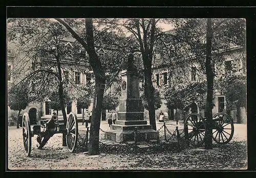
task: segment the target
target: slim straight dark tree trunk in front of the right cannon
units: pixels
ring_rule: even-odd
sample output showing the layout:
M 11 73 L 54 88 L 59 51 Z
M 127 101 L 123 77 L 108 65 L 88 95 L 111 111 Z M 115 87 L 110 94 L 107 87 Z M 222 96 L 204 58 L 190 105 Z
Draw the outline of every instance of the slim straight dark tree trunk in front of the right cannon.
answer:
M 212 128 L 210 122 L 212 121 L 212 97 L 214 95 L 214 72 L 211 66 L 211 39 L 212 39 L 212 28 L 211 19 L 207 19 L 206 24 L 206 60 L 205 70 L 207 78 L 207 98 L 206 98 L 206 133 L 205 133 L 205 149 L 212 149 Z

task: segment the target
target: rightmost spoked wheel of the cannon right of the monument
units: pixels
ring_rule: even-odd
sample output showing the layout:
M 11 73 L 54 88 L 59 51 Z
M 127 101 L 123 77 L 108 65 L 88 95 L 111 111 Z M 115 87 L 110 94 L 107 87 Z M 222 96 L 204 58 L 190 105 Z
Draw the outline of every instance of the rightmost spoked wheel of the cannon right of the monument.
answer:
M 217 113 L 212 119 L 215 120 L 215 127 L 212 129 L 212 139 L 219 144 L 227 144 L 233 137 L 234 124 L 226 113 Z

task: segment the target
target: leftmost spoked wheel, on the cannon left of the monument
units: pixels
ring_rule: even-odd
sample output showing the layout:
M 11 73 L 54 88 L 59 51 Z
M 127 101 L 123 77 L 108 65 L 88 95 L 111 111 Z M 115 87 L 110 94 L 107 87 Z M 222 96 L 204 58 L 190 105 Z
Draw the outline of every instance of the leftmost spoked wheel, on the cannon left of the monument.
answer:
M 26 155 L 29 157 L 31 152 L 31 128 L 30 120 L 28 113 L 24 113 L 22 119 L 22 135 L 23 135 L 23 144 L 25 148 Z

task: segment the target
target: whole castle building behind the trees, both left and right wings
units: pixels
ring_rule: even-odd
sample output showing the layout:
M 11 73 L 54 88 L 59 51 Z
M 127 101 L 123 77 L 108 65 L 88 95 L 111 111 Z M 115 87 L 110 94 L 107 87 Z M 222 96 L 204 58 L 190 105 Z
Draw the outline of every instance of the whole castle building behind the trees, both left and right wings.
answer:
M 69 45 L 70 47 L 72 47 L 72 43 L 74 41 L 74 39 L 65 39 L 62 40 L 62 43 L 63 45 Z M 108 53 L 108 50 L 105 50 L 101 47 L 96 47 L 96 52 L 98 53 L 98 56 L 103 56 Z M 80 48 L 78 53 L 84 54 L 84 56 L 88 58 L 88 54 L 83 48 Z M 246 76 L 246 63 L 244 57 L 242 57 L 242 53 L 244 53 L 244 51 L 239 46 L 235 46 L 222 52 L 225 60 L 215 64 L 215 83 L 218 84 L 218 80 L 221 78 L 222 75 L 230 75 L 232 72 L 232 68 L 237 68 L 237 73 Z M 162 98 L 166 87 L 179 88 L 182 86 L 185 87 L 191 83 L 206 81 L 206 75 L 204 74 L 205 72 L 201 69 L 200 64 L 197 62 L 186 62 L 182 63 L 182 65 L 179 66 L 175 65 L 175 62 L 166 63 L 163 59 L 161 59 L 159 55 L 157 55 L 156 58 L 158 58 L 158 60 L 160 61 L 162 60 L 162 62 L 159 62 L 157 66 L 154 66 L 152 80 L 155 89 L 159 90 L 162 94 Z M 11 55 L 11 53 L 8 53 L 8 89 L 10 84 L 17 83 L 22 80 L 26 76 L 26 73 L 33 68 L 33 62 L 31 61 L 30 64 L 23 67 L 23 71 L 20 71 L 20 67 L 17 62 L 18 59 L 20 59 L 19 56 L 15 57 L 15 55 Z M 47 57 L 41 57 L 38 62 L 39 63 L 37 67 L 46 67 L 52 65 L 55 60 L 49 59 Z M 81 118 L 82 109 L 77 106 L 77 98 L 81 95 L 81 93 L 77 91 L 77 88 L 86 87 L 87 85 L 93 86 L 94 80 L 91 67 L 88 65 L 88 62 L 77 63 L 73 59 L 62 59 L 61 73 L 63 79 L 68 80 L 72 83 L 70 87 L 72 88 L 73 98 L 69 101 L 66 107 L 66 113 L 69 114 L 70 112 L 73 112 L 77 114 L 78 118 Z M 118 76 L 118 78 L 120 78 L 120 76 Z M 143 87 L 143 77 L 140 85 L 141 87 Z M 113 87 L 116 88 L 120 86 L 113 84 L 112 87 L 110 87 L 106 92 L 114 91 Z M 49 98 L 45 98 L 45 100 L 40 104 L 31 103 L 23 112 L 28 112 L 30 108 L 34 107 L 37 109 L 37 111 L 40 111 L 38 113 L 40 113 L 40 116 L 42 118 L 50 118 L 54 112 L 54 110 L 50 106 L 50 101 L 51 100 Z M 213 114 L 226 111 L 225 95 L 221 91 L 219 91 L 218 88 L 214 89 L 213 101 L 215 104 L 215 107 L 212 110 Z M 242 122 L 246 123 L 246 110 L 245 108 L 241 108 L 240 110 Z M 89 107 L 89 112 L 91 111 L 92 104 Z M 167 108 L 166 100 L 163 99 L 161 108 L 156 111 L 156 119 L 158 119 L 160 111 L 168 112 L 169 119 L 184 119 L 185 116 L 192 111 L 201 114 L 203 117 L 205 116 L 205 109 L 201 108 L 197 104 L 197 100 L 194 101 L 193 108 L 190 108 L 188 112 L 184 112 L 180 109 Z M 147 113 L 148 111 L 145 110 L 145 119 L 147 119 Z M 58 111 L 58 115 L 61 117 L 61 111 Z M 233 118 L 234 122 L 237 121 L 236 108 L 233 108 L 233 110 L 230 112 L 230 116 Z

